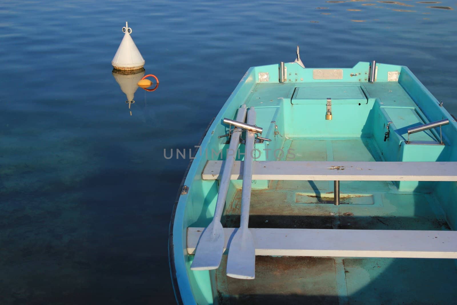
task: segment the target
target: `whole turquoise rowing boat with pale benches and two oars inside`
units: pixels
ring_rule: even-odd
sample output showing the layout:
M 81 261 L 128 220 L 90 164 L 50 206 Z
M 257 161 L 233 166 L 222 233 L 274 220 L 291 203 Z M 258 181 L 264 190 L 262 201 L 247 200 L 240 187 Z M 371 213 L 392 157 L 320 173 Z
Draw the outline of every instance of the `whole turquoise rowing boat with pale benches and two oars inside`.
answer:
M 457 124 L 405 66 L 251 67 L 170 223 L 182 304 L 457 304 Z

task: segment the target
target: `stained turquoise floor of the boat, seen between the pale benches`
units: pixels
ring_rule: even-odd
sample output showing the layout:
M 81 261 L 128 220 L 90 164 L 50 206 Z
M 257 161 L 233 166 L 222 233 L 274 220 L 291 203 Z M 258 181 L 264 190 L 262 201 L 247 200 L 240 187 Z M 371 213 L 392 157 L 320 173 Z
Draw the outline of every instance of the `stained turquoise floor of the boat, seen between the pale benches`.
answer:
M 383 161 L 372 139 L 287 139 L 295 161 Z M 298 152 L 301 152 L 300 154 Z M 283 159 L 284 160 L 284 159 Z M 393 182 L 272 181 L 253 190 L 252 228 L 451 230 L 435 198 Z M 226 205 L 224 227 L 239 226 L 241 190 Z M 449 259 L 262 257 L 255 279 L 228 278 L 227 257 L 215 277 L 221 304 L 450 304 L 457 266 Z

